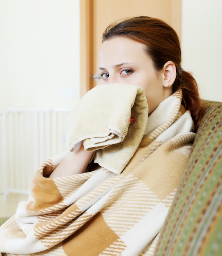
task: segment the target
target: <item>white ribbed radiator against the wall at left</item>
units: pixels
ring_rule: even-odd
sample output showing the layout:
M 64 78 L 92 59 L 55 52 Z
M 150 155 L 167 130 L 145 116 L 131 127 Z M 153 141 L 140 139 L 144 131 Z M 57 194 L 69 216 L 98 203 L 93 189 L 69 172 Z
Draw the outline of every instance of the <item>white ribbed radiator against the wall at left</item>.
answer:
M 3 193 L 27 194 L 43 161 L 67 150 L 69 108 L 20 108 L 2 114 Z

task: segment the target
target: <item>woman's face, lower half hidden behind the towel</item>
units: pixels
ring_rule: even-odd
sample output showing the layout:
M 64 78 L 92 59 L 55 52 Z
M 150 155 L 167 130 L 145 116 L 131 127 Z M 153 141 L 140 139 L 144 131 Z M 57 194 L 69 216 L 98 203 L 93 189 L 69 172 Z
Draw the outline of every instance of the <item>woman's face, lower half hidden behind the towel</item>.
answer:
M 105 40 L 100 49 L 100 71 L 105 84 L 139 85 L 145 91 L 149 114 L 172 94 L 163 86 L 164 70 L 157 72 L 145 45 L 125 37 Z

